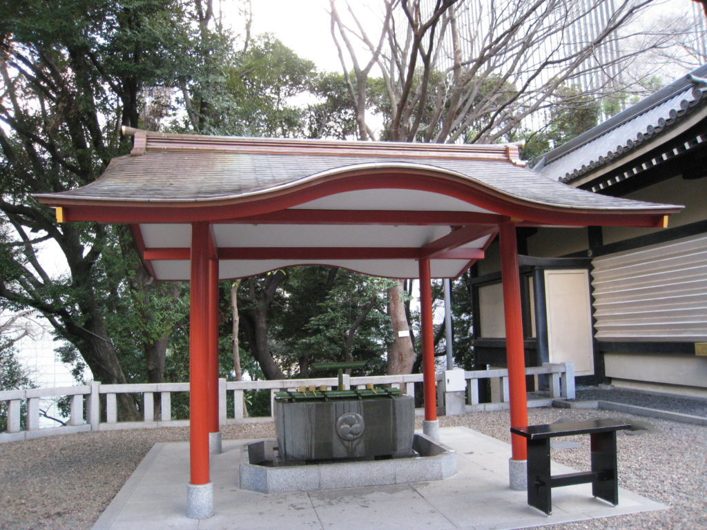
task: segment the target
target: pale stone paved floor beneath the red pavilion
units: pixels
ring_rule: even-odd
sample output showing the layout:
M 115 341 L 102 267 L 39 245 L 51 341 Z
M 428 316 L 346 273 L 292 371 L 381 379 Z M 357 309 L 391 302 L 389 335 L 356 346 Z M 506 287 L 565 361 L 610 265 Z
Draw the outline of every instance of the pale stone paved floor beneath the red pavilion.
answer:
M 211 458 L 216 514 L 201 521 L 185 516 L 189 444 L 158 443 L 93 530 L 511 530 L 666 508 L 623 489 L 613 507 L 580 484 L 554 488 L 546 516 L 508 487 L 508 444 L 464 427 L 442 428 L 440 437 L 457 452 L 459 470 L 444 481 L 269 495 L 238 487 L 253 440 L 224 440 L 223 453 Z

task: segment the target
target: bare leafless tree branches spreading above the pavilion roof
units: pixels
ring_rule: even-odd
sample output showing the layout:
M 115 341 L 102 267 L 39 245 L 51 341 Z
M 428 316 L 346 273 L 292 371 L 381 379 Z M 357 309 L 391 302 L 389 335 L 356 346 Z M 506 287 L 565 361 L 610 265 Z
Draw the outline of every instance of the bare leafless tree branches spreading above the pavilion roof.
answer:
M 370 137 L 361 109 L 370 73 L 360 66 L 356 40 L 380 70 L 390 103 L 383 116 L 387 139 L 491 143 L 551 108 L 563 86 L 582 84 L 585 95 L 597 98 L 625 91 L 618 73 L 679 35 L 671 27 L 635 26 L 652 2 L 385 0 L 391 16 L 381 28 L 382 49 L 351 6 L 354 24 L 346 25 L 335 0 L 330 5 L 344 75 L 346 64 L 354 65 L 347 82 L 364 122 L 362 138 Z

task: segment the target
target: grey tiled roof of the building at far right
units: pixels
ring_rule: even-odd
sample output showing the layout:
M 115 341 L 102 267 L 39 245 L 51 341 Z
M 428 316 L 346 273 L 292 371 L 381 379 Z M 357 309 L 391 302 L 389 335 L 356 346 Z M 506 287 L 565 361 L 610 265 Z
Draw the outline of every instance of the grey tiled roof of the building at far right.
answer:
M 686 117 L 706 110 L 707 64 L 550 151 L 534 169 L 573 182 L 658 141 Z

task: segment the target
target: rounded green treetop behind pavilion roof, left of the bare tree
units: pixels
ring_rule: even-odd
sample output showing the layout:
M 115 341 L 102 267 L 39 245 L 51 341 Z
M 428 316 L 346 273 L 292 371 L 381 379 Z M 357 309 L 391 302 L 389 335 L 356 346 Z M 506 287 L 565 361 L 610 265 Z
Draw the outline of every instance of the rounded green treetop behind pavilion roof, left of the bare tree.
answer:
M 191 61 L 189 81 L 176 83 L 177 106 L 186 108 L 187 119 L 172 119 L 168 129 L 301 138 L 315 131 L 318 116 L 321 130 L 314 134 L 336 131 L 324 122 L 341 113 L 333 98 L 327 100 L 337 90 L 335 76 L 318 74 L 312 61 L 298 57 L 272 35 L 259 35 L 238 51 L 233 36 L 223 30 L 196 38 L 204 49 Z M 310 110 L 303 100 L 312 95 L 323 96 L 325 102 Z

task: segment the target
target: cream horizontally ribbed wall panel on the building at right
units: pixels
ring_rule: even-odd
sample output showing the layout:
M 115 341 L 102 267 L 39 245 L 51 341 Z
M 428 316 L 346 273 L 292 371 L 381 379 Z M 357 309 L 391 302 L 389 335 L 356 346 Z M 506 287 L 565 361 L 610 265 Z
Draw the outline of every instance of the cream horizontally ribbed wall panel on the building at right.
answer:
M 707 234 L 592 261 L 600 341 L 707 341 Z

